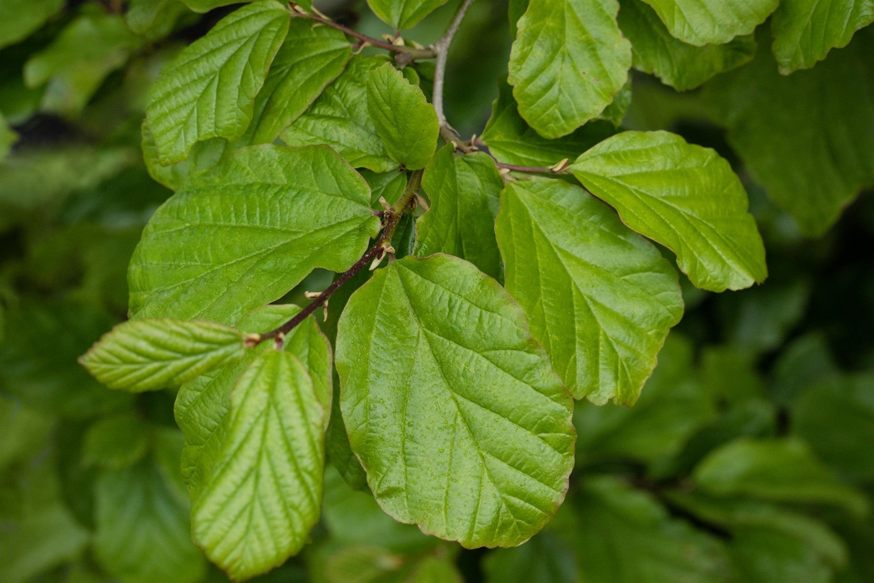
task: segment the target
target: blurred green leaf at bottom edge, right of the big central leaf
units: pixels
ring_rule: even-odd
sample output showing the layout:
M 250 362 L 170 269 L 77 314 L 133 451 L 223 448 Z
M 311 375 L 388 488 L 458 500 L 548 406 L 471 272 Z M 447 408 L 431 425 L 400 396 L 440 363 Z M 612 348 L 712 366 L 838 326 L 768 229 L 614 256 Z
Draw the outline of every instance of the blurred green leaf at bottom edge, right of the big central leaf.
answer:
M 728 583 L 718 538 L 674 517 L 655 497 L 613 476 L 583 480 L 549 530 L 572 549 L 579 581 Z

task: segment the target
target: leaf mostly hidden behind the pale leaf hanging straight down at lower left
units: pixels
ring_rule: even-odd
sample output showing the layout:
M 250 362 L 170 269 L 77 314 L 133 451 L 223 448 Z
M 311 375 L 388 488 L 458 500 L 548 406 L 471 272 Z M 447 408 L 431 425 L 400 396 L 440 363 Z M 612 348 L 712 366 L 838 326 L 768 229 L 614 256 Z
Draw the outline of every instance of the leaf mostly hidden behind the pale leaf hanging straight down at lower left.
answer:
M 294 304 L 272 304 L 243 316 L 239 330 L 263 333 L 288 322 L 301 309 Z M 263 350 L 273 350 L 269 343 L 260 344 L 236 364 L 210 371 L 179 389 L 176 399 L 176 421 L 185 435 L 182 450 L 182 475 L 192 499 L 197 499 L 206 474 L 218 456 L 223 443 L 220 427 L 225 422 L 231 404 L 234 383 L 242 371 Z M 285 350 L 304 364 L 313 382 L 316 398 L 329 411 L 331 406 L 330 346 L 319 331 L 316 318 L 310 316 L 292 330 L 285 339 Z M 327 419 L 326 419 L 327 422 Z

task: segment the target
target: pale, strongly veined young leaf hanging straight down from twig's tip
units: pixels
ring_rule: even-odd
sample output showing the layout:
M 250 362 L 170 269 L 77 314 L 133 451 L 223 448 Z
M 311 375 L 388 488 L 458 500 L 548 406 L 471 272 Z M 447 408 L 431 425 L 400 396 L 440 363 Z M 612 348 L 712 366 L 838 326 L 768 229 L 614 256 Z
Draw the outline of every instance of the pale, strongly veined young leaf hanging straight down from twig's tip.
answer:
M 240 375 L 222 448 L 191 510 L 194 539 L 233 580 L 306 544 L 322 507 L 325 413 L 288 352 L 265 350 Z

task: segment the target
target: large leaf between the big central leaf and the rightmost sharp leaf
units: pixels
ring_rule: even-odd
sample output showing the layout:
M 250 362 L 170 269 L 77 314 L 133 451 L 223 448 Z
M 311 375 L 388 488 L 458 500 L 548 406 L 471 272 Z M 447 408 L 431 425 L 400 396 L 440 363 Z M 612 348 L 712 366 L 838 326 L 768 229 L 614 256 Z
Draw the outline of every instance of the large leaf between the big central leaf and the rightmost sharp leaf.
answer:
M 497 239 L 505 286 L 574 397 L 634 405 L 683 316 L 676 270 L 574 184 L 507 184 Z

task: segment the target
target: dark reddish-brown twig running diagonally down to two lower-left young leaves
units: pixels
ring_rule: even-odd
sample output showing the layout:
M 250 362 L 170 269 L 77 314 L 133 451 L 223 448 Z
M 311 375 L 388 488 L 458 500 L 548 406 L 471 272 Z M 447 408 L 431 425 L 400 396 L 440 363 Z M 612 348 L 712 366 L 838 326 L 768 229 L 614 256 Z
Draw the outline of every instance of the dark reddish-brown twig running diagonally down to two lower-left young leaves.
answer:
M 400 218 L 403 216 L 404 212 L 406 212 L 406 208 L 413 203 L 415 200 L 416 191 L 419 190 L 420 184 L 422 183 L 422 170 L 416 170 L 413 172 L 413 175 L 410 177 L 409 181 L 406 183 L 406 190 L 404 194 L 401 195 L 398 203 L 394 205 L 392 208 L 392 212 L 385 212 L 383 217 L 385 218 L 385 227 L 383 228 L 382 234 L 379 236 L 376 244 L 371 246 L 370 249 L 367 250 L 364 255 L 361 256 L 361 259 L 355 262 L 355 265 L 344 271 L 340 274 L 336 280 L 331 283 L 324 291 L 316 295 L 312 302 L 309 302 L 309 305 L 298 312 L 295 317 L 288 320 L 288 322 L 282 324 L 279 328 L 274 330 L 270 330 L 264 334 L 255 334 L 246 339 L 246 345 L 253 347 L 258 344 L 264 342 L 265 340 L 270 340 L 271 338 L 277 338 L 281 340 L 285 337 L 288 332 L 295 329 L 299 323 L 302 323 L 307 319 L 309 315 L 316 311 L 316 309 L 321 308 L 325 303 L 328 302 L 331 295 L 336 292 L 337 289 L 343 287 L 343 284 L 346 281 L 349 281 L 353 275 L 357 274 L 361 271 L 364 266 L 370 263 L 372 260 L 377 257 L 382 257 L 383 253 L 386 250 L 389 250 L 392 246 L 392 236 L 394 235 L 395 230 L 398 228 L 398 223 L 400 222 Z

